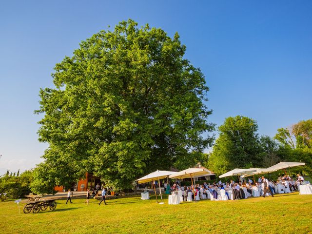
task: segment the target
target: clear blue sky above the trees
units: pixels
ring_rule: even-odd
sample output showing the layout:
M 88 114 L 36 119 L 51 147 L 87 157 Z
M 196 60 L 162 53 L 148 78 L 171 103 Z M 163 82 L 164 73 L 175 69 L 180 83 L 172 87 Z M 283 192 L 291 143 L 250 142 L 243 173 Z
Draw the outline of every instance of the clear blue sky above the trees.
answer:
M 107 25 L 180 34 L 210 87 L 209 121 L 254 118 L 260 135 L 312 118 L 312 1 L 1 1 L 0 175 L 42 161 L 34 115 L 56 63 Z

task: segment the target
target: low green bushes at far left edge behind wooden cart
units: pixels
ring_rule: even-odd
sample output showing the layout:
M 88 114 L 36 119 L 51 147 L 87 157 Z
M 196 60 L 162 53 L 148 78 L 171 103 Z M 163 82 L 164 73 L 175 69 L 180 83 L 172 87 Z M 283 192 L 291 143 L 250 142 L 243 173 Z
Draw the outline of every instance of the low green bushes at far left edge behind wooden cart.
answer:
M 1 199 L 22 198 L 24 195 L 28 195 L 31 192 L 29 185 L 32 180 L 32 171 L 25 171 L 20 176 L 0 177 L 0 194 L 7 194 L 6 196 L 1 195 Z

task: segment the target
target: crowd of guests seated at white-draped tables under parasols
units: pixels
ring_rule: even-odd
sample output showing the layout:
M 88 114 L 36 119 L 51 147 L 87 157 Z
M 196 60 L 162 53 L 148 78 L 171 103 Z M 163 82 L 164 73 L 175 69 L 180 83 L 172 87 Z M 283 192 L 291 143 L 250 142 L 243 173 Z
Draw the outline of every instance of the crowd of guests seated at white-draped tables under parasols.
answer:
M 180 181 L 176 180 L 172 187 L 169 184 L 164 183 L 165 191 L 170 191 L 172 194 L 182 194 L 183 200 L 186 201 L 187 197 L 192 194 L 192 200 L 199 199 L 202 197 L 217 199 L 219 196 L 220 190 L 225 190 L 225 195 L 228 199 L 231 199 L 229 191 L 232 192 L 232 199 L 245 199 L 250 196 L 260 196 L 265 197 L 266 195 L 274 196 L 276 193 L 291 193 L 299 190 L 299 185 L 304 182 L 303 176 L 297 175 L 296 178 L 290 176 L 279 176 L 276 181 L 268 180 L 265 176 L 258 178 L 258 181 L 253 181 L 252 179 L 248 180 L 231 180 L 229 182 L 214 182 L 213 184 L 196 184 L 195 186 L 181 186 Z M 281 188 L 281 191 L 277 191 L 278 188 Z M 179 191 L 182 191 L 179 192 Z M 289 192 L 288 192 L 289 191 Z M 191 193 L 190 193 L 191 192 Z

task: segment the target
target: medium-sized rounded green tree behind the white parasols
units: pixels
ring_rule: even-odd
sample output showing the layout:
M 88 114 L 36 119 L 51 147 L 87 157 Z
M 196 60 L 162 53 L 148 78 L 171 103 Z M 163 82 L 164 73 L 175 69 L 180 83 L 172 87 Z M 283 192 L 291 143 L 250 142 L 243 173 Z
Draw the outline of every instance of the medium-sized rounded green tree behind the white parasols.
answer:
M 209 155 L 208 166 L 216 174 L 234 168 L 261 165 L 258 125 L 249 117 L 228 117 L 219 126 L 219 137 Z

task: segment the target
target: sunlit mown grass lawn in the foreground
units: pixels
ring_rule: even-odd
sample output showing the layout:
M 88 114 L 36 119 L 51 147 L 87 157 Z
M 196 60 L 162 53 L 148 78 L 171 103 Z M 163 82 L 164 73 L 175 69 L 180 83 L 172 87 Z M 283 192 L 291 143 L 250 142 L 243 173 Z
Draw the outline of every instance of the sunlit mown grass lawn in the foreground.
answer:
M 236 201 L 183 202 L 159 205 L 139 197 L 108 200 L 59 200 L 55 211 L 21 214 L 12 201 L 0 203 L 0 230 L 3 234 L 307 234 L 312 233 L 312 195 L 275 195 Z

